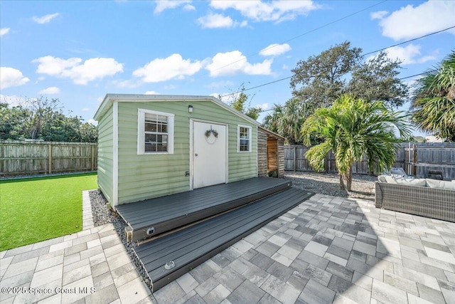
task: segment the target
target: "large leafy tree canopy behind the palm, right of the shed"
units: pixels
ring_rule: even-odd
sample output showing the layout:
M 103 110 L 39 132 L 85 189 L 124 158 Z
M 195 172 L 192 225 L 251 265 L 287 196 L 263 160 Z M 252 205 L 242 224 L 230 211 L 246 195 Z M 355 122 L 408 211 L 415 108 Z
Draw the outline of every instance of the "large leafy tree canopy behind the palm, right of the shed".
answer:
M 316 108 L 330 107 L 343 94 L 368 102 L 381 100 L 391 108 L 402 105 L 407 99 L 408 88 L 397 78 L 400 61 L 392 61 L 384 52 L 365 60 L 361 53 L 361 48 L 352 47 L 346 41 L 299 61 L 292 69 L 292 98 L 279 108 L 278 113 L 269 114 L 264 125 L 277 125 L 274 132 L 287 137 L 289 142 L 301 143 L 301 136 L 293 136 L 287 129 L 299 130 L 301 123 Z M 291 117 L 297 114 L 303 117 L 298 120 Z M 279 127 L 280 123 L 274 122 L 278 117 L 291 125 Z

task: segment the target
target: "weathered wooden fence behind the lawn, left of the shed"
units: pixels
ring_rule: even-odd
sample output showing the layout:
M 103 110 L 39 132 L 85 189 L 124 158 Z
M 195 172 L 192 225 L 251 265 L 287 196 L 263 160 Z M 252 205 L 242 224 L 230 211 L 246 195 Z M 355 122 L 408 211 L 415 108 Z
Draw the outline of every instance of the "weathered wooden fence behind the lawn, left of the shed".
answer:
M 0 141 L 0 177 L 95 171 L 97 143 Z

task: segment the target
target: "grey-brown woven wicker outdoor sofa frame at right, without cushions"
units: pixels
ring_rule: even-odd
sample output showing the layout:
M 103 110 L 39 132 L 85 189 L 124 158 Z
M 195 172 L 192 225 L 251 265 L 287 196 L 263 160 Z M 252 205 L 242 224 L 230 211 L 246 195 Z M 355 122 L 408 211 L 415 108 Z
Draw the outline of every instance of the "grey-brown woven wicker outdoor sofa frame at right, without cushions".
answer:
M 455 191 L 375 182 L 375 206 L 455 222 Z

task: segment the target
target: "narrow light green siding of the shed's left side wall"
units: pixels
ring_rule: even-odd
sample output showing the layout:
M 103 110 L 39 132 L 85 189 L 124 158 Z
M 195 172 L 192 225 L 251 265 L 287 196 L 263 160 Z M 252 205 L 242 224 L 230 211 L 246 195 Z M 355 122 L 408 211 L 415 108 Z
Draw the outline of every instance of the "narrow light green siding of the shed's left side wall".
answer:
M 113 137 L 112 107 L 100 117 L 98 122 L 98 187 L 107 200 L 112 202 L 114 185 L 114 137 Z

